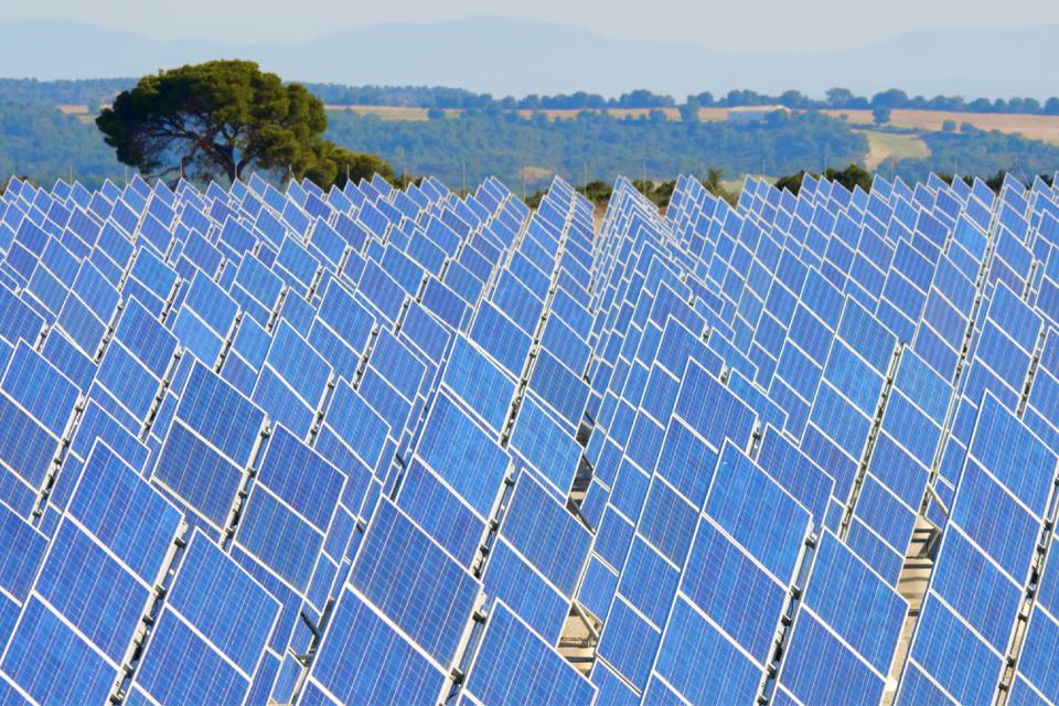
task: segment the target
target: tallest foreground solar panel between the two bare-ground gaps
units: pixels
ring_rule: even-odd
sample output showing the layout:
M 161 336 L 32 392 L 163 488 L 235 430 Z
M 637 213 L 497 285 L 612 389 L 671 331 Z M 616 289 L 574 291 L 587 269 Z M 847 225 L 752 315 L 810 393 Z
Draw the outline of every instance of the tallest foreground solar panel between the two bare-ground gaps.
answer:
M 727 442 L 654 667 L 685 698 L 726 678 L 724 698 L 755 698 L 809 526 L 807 511 Z M 730 601 L 726 584 L 745 587 L 745 599 Z M 724 656 L 693 665 L 678 654 L 689 645 L 715 645 Z

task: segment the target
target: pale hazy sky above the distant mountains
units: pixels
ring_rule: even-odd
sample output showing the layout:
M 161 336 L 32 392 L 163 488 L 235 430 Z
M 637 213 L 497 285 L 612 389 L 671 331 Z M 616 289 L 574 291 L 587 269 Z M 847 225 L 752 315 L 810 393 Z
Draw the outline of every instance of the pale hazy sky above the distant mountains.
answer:
M 996 0 L 533 0 L 532 4 L 525 0 L 313 0 L 308 6 L 290 0 L 34 0 L 6 4 L 13 7 L 0 9 L 2 19 L 68 20 L 163 40 L 306 40 L 378 23 L 496 15 L 573 24 L 623 40 L 692 42 L 729 53 L 826 52 L 920 29 L 1059 24 L 1055 0 L 1005 0 L 1003 13 Z

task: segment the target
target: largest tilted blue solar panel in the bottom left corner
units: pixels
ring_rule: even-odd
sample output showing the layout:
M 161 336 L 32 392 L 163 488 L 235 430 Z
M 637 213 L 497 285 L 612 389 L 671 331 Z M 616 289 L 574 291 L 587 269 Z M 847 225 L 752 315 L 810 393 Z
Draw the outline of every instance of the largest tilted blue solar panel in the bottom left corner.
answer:
M 97 443 L 11 633 L 3 671 L 34 698 L 106 698 L 175 550 L 180 522 L 172 505 Z M 60 671 L 42 678 L 42 656 Z

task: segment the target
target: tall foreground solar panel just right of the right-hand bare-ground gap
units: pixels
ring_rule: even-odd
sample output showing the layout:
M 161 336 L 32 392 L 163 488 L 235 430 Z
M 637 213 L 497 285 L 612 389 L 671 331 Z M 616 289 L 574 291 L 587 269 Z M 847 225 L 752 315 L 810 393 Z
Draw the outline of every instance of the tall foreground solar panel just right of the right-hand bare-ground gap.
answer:
M 1040 533 L 1046 483 L 1023 463 L 1055 468 L 1056 457 L 992 396 L 982 404 L 902 689 L 916 693 L 917 670 L 955 698 L 992 695 L 1001 654 Z M 1016 500 L 1018 499 L 1018 500 Z M 981 509 L 988 507 L 987 513 Z M 955 651 L 955 652 L 954 652 Z M 974 670 L 952 668 L 951 655 Z

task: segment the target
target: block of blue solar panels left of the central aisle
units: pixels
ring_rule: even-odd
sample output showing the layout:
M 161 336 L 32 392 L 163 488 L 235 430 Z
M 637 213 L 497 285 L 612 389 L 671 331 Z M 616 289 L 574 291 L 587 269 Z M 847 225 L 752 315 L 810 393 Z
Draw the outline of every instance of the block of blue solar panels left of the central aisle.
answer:
M 531 628 L 590 542 L 566 184 L 13 182 L 2 222 L 4 700 L 592 699 Z

